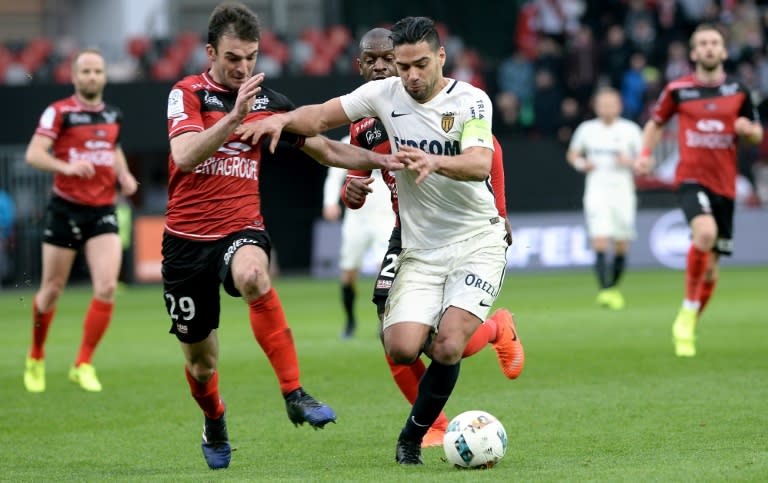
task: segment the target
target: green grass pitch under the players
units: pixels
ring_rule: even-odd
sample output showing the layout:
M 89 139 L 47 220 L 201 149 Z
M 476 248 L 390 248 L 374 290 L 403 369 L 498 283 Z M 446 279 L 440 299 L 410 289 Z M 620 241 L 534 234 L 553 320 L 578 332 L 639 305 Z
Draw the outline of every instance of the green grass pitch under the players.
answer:
M 394 463 L 408 412 L 376 338 L 371 282 L 360 283 L 360 328 L 339 338 L 335 281 L 275 285 L 298 348 L 302 382 L 331 404 L 322 431 L 289 422 L 242 301 L 222 297 L 221 390 L 235 452 L 213 473 L 202 415 L 159 286 L 121 290 L 94 365 L 104 391 L 67 381 L 90 292 L 69 288 L 47 344 L 47 391 L 22 384 L 32 288 L 0 293 L 0 480 L 3 481 L 765 481 L 768 479 L 768 269 L 724 269 L 699 325 L 698 351 L 677 359 L 671 323 L 683 274 L 630 271 L 627 308 L 594 305 L 590 272 L 515 274 L 497 306 L 516 314 L 527 361 L 506 380 L 490 346 L 462 363 L 450 416 L 483 409 L 505 425 L 504 460 L 460 471 L 424 451 Z

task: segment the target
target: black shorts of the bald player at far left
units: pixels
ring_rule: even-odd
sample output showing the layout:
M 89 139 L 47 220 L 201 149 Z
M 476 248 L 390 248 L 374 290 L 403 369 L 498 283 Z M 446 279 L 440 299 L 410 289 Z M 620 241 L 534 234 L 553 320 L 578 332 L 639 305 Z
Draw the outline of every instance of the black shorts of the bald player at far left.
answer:
M 79 250 L 89 239 L 118 233 L 115 205 L 88 206 L 52 196 L 45 217 L 43 242 Z

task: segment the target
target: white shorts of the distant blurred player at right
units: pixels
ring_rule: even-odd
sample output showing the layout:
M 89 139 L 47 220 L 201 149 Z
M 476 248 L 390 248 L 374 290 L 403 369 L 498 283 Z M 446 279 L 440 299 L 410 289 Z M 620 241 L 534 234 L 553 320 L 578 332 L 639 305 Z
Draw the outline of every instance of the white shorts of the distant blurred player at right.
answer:
M 633 193 L 585 196 L 584 217 L 590 238 L 633 240 L 637 198 Z

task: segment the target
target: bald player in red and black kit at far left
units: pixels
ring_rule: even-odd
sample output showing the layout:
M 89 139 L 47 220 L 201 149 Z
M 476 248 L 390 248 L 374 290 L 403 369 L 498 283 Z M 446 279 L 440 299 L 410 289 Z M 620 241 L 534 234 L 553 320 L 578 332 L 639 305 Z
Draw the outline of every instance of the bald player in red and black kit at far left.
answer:
M 112 317 L 123 252 L 115 214 L 116 186 L 119 183 L 125 196 L 137 187 L 119 144 L 122 115 L 102 98 L 106 82 L 98 50 L 75 56 L 75 94 L 48 106 L 27 147 L 30 165 L 55 173 L 43 232 L 42 280 L 32 301 L 32 347 L 24 371 L 24 386 L 30 392 L 45 391 L 45 339 L 80 249 L 88 262 L 93 299 L 69 378 L 86 391 L 102 388 L 91 359 Z

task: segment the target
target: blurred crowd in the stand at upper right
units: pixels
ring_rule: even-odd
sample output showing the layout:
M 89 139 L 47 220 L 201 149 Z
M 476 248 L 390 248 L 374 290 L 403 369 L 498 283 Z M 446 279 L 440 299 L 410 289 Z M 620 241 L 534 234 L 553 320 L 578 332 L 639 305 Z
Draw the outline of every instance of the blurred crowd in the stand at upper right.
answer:
M 705 22 L 722 27 L 726 70 L 760 105 L 768 8 L 755 0 L 532 0 L 495 72 L 494 125 L 565 142 L 592 115 L 591 94 L 603 85 L 621 92 L 624 117 L 643 123 L 663 86 L 691 72 L 688 39 Z

